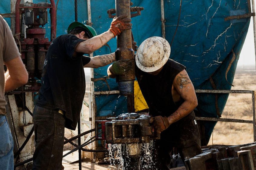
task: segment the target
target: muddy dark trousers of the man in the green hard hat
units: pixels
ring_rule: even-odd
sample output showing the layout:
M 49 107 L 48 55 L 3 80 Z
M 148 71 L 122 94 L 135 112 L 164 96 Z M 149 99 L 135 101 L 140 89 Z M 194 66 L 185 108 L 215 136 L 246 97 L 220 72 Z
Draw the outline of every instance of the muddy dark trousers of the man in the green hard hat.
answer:
M 65 118 L 59 110 L 35 106 L 33 170 L 61 170 Z

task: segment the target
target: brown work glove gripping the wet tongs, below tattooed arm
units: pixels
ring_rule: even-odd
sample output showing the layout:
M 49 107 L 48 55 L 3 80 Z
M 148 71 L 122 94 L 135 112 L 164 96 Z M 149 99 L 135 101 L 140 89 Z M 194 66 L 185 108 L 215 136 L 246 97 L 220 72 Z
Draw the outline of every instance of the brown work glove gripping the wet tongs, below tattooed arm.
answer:
M 156 133 L 160 134 L 162 131 L 166 130 L 170 124 L 168 118 L 162 116 L 156 116 L 149 120 L 149 123 L 153 124 Z

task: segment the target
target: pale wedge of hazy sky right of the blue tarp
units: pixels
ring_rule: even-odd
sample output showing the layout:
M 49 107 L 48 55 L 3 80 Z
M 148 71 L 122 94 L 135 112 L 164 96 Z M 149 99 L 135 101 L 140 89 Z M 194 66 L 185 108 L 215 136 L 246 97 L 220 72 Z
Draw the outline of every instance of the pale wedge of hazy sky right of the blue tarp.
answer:
M 254 65 L 255 66 L 254 35 L 253 35 L 252 17 L 251 17 L 250 26 L 248 29 L 247 36 L 245 38 L 245 43 L 241 50 L 237 65 L 239 65 L 239 66 Z

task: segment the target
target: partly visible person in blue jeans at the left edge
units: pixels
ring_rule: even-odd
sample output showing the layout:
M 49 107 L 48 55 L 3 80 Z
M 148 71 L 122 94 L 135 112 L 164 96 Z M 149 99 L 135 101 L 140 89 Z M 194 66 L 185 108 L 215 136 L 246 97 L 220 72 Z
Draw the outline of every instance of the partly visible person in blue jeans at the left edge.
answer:
M 28 82 L 28 72 L 21 60 L 11 30 L 0 15 L 0 169 L 13 170 L 13 139 L 6 119 L 5 92 Z M 4 70 L 4 64 L 7 71 Z

